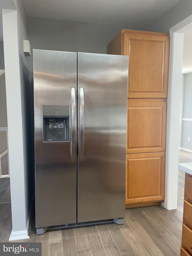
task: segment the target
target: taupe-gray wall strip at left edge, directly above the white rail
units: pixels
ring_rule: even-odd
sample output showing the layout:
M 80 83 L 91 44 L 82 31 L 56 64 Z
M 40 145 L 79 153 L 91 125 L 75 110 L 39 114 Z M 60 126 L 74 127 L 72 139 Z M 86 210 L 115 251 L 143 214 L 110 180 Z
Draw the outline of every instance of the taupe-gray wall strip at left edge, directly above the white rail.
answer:
M 0 127 L 7 127 L 5 73 L 0 76 Z

